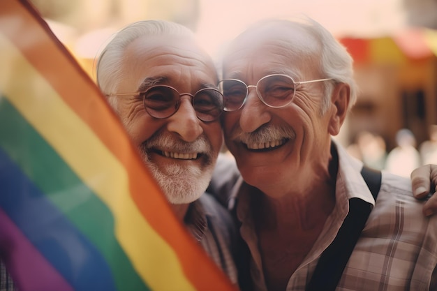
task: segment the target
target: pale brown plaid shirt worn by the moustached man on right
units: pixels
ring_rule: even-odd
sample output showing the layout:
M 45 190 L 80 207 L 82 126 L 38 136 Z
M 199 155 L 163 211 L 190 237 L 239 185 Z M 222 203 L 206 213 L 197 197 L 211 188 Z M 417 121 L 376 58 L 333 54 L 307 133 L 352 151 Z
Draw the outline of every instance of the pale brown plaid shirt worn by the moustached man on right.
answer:
M 383 172 L 375 203 L 360 174 L 362 163 L 350 158 L 338 145 L 336 147 L 339 153 L 336 206 L 313 248 L 290 277 L 286 290 L 305 290 L 320 255 L 346 218 L 348 200 L 352 197 L 374 207 L 336 290 L 437 290 L 437 274 L 433 274 L 437 265 L 437 216 L 423 216 L 423 204 L 413 197 L 409 179 L 386 172 Z M 248 189 L 240 180 L 233 195 L 239 197 L 240 232 L 251 250 L 254 290 L 267 290 L 258 239 L 249 215 Z

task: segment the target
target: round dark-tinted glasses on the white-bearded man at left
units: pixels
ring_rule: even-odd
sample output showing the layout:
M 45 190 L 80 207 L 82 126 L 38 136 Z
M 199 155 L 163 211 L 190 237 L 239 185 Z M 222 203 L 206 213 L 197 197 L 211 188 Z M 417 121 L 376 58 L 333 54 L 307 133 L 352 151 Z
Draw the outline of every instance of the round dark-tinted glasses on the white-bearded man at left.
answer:
M 175 88 L 158 85 L 152 86 L 146 91 L 135 93 L 110 94 L 108 96 L 139 96 L 146 112 L 154 118 L 165 119 L 171 117 L 179 109 L 181 96 L 191 96 L 191 103 L 195 114 L 201 121 L 209 122 L 218 119 L 223 112 L 223 95 L 214 88 L 203 88 L 194 95 L 189 93 L 180 94 Z

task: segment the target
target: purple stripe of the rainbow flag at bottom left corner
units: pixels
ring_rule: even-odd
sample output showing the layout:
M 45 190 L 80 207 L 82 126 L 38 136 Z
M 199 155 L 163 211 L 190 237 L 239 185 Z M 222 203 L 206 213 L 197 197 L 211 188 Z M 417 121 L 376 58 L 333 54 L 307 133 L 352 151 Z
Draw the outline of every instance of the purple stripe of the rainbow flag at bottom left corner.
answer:
M 10 249 L 11 246 L 20 249 L 20 252 L 2 254 L 20 291 L 73 291 L 71 285 L 45 260 L 1 208 L 0 230 L 1 249 Z

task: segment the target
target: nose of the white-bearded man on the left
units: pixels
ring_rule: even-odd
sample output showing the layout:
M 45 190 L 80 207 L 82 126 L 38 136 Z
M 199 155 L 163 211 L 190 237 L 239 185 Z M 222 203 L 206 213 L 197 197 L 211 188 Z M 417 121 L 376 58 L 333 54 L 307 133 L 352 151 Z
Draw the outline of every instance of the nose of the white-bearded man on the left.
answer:
M 168 118 L 167 129 L 186 142 L 195 141 L 202 133 L 200 119 L 195 114 L 190 96 L 181 96 L 179 109 Z

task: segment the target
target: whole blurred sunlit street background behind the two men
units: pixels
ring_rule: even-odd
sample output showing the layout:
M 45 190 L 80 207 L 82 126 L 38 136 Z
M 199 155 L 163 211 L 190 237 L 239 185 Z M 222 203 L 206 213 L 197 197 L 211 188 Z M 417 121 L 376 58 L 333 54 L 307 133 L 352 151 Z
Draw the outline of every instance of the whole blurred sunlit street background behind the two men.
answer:
M 401 168 L 409 175 L 410 167 L 437 164 L 437 0 L 31 3 L 93 79 L 99 50 L 130 22 L 163 19 L 184 24 L 219 59 L 225 44 L 255 20 L 309 15 L 355 60 L 360 95 L 336 138 L 365 163 L 392 172 Z

